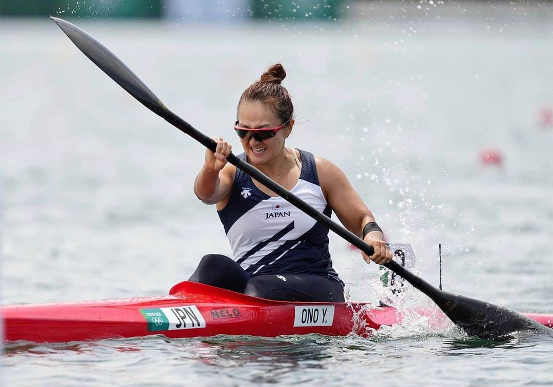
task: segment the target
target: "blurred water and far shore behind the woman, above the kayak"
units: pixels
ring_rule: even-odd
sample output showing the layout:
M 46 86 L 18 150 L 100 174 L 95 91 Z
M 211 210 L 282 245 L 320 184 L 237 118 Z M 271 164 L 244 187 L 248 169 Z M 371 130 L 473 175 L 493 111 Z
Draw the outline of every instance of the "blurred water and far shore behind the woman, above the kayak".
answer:
M 339 165 L 388 239 L 446 289 L 547 308 L 553 7 L 547 2 L 1 0 L 3 301 L 164 294 L 229 254 L 192 182 L 204 149 L 98 70 L 91 33 L 186 121 L 233 141 L 241 92 L 288 71 L 288 145 Z M 331 237 L 356 300 L 378 268 Z M 545 300 L 545 301 L 544 301 Z

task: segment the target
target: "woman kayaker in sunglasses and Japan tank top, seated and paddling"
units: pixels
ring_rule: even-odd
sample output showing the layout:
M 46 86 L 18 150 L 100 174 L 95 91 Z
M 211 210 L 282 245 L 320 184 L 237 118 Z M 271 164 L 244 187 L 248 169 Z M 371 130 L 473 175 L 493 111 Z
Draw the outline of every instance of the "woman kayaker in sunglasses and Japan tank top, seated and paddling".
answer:
M 242 93 L 234 130 L 244 153 L 238 155 L 327 216 L 332 211 L 351 232 L 374 248 L 363 259 L 388 263 L 392 253 L 373 213 L 346 175 L 330 161 L 285 147 L 294 127 L 294 106 L 281 85 L 276 64 Z M 332 268 L 328 229 L 273 191 L 227 163 L 231 145 L 214 138 L 196 176 L 194 192 L 215 204 L 232 258 L 205 255 L 190 281 L 279 301 L 343 302 L 343 282 Z

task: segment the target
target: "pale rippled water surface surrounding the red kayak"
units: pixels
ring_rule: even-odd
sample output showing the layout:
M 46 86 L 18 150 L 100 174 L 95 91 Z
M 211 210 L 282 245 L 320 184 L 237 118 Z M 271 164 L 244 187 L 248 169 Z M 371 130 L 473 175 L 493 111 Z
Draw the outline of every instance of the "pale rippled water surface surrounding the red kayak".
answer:
M 552 312 L 553 128 L 540 114 L 553 108 L 553 29 L 496 12 L 432 23 L 79 25 L 174 112 L 235 147 L 238 96 L 283 62 L 304 122 L 288 145 L 340 165 L 389 239 L 413 245 L 419 274 L 437 283 L 442 243 L 446 290 Z M 0 34 L 4 303 L 166 294 L 202 255 L 229 253 L 214 208 L 192 193 L 199 144 L 53 23 L 2 20 Z M 488 147 L 502 165 L 481 165 Z M 377 300 L 377 266 L 339 237 L 331 243 L 350 299 Z M 419 320 L 372 338 L 15 343 L 1 362 L 6 385 L 548 385 L 552 351 Z

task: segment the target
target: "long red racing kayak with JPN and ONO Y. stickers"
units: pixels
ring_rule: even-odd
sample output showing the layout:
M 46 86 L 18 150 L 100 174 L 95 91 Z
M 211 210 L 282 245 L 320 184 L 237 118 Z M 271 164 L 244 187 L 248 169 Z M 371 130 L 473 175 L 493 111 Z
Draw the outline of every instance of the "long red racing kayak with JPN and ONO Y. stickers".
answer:
M 441 312 L 439 312 L 441 313 Z M 12 305 L 0 308 L 6 341 L 90 341 L 106 338 L 247 334 L 275 337 L 319 333 L 368 336 L 394 325 L 402 314 L 393 307 L 346 302 L 281 302 L 218 287 L 181 282 L 168 296 L 118 300 Z M 425 313 L 432 318 L 444 315 Z M 526 315 L 553 327 L 553 315 Z

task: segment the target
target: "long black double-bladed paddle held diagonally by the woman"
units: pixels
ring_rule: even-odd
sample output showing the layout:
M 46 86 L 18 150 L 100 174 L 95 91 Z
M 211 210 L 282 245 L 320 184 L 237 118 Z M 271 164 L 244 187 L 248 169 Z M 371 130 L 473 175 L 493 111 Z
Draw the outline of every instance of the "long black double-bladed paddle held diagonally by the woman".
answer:
M 119 86 L 123 87 L 140 103 L 182 130 L 182 132 L 196 139 L 204 145 L 204 147 L 215 151 L 216 143 L 211 138 L 199 132 L 192 127 L 192 125 L 166 108 L 163 102 L 144 85 L 131 69 L 119 60 L 117 56 L 113 55 L 111 51 L 105 48 L 105 46 L 79 27 L 59 18 L 52 17 L 51 19 L 59 25 L 63 32 L 82 53 L 88 56 L 88 58 L 100 67 L 103 72 L 112 80 L 116 81 Z M 355 234 L 349 232 L 347 229 L 340 226 L 340 224 L 332 221 L 329 217 L 315 210 L 315 208 L 308 205 L 299 197 L 269 179 L 269 177 L 265 176 L 254 166 L 246 163 L 246 161 L 238 159 L 232 153 L 227 157 L 227 160 L 229 163 L 236 166 L 236 168 L 243 170 L 255 180 L 298 207 L 301 211 L 304 211 L 317 222 L 324 224 L 333 232 L 346 239 L 349 243 L 363 250 L 366 254 L 374 254 L 374 249 L 371 245 L 363 242 L 363 240 L 358 238 Z M 508 336 L 516 331 L 543 332 L 553 336 L 553 330 L 540 325 L 538 322 L 528 317 L 519 315 L 517 312 L 510 311 L 507 308 L 497 305 L 488 304 L 487 302 L 441 291 L 413 273 L 410 273 L 410 271 L 394 261 L 385 264 L 385 266 L 408 280 L 416 289 L 419 289 L 434 300 L 451 321 L 471 336 L 474 335 L 481 338 L 494 339 Z

